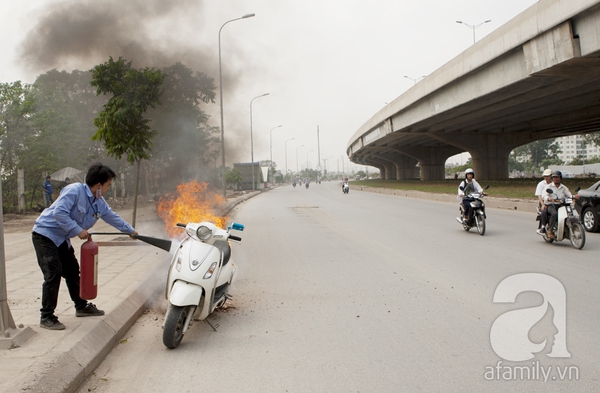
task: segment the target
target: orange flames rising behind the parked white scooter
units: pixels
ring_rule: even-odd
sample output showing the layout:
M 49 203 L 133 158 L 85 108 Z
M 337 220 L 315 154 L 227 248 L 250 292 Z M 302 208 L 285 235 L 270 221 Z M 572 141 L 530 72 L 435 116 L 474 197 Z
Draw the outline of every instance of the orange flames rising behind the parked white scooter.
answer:
M 208 183 L 199 183 L 192 180 L 177 186 L 176 194 L 168 194 L 158 201 L 157 212 L 166 224 L 166 231 L 170 237 L 181 235 L 181 229 L 175 224 L 189 222 L 209 221 L 218 227 L 224 228 L 227 216 L 221 217 L 214 214 L 219 206 L 226 201 L 222 195 L 208 190 Z

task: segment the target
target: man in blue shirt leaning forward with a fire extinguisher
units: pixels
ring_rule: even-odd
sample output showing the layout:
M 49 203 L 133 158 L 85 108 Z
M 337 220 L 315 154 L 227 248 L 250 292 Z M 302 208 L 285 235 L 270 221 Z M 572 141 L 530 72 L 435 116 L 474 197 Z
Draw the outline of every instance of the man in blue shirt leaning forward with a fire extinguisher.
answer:
M 75 303 L 75 316 L 104 315 L 104 311 L 79 296 L 79 263 L 70 239 L 75 236 L 87 239 L 88 229 L 100 218 L 131 237 L 137 235 L 135 229 L 113 212 L 102 197 L 116 177 L 117 174 L 109 167 L 101 163 L 92 165 L 85 178 L 86 184 L 73 183 L 63 188 L 56 202 L 35 221 L 33 247 L 44 274 L 40 327 L 50 330 L 65 328 L 54 315 L 61 277 L 65 278 L 69 295 Z

